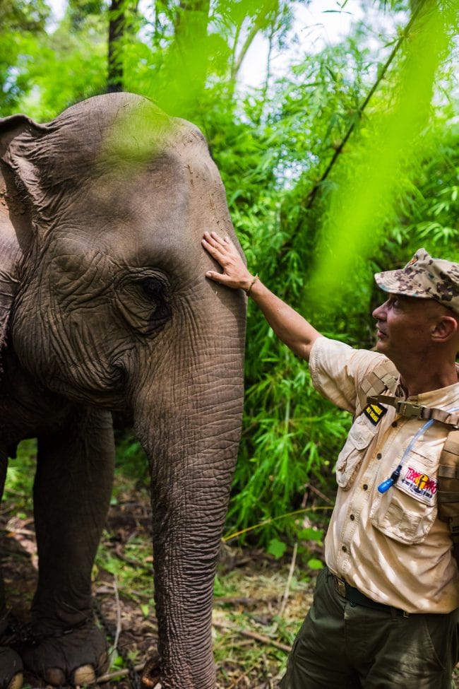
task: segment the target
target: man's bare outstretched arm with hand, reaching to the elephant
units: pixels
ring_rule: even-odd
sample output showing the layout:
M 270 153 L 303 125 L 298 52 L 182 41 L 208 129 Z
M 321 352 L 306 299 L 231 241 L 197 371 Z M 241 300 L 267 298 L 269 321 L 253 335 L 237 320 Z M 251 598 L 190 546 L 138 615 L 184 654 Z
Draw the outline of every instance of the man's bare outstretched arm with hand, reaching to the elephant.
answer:
M 223 269 L 222 273 L 208 271 L 205 276 L 227 287 L 246 291 L 278 338 L 292 352 L 309 361 L 311 347 L 321 334 L 250 273 L 231 240 L 219 237 L 215 232 L 205 232 L 202 243 Z

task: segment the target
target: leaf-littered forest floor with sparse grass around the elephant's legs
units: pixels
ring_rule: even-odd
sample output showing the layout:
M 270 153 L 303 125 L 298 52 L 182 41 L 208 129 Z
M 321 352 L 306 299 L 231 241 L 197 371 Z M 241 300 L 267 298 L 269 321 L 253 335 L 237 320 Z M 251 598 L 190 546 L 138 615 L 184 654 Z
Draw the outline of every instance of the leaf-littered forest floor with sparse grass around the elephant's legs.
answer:
M 101 689 L 135 689 L 129 667 L 141 673 L 145 660 L 157 657 L 150 524 L 145 485 L 117 477 L 93 570 L 100 624 L 111 632 L 111 666 L 98 680 Z M 32 509 L 30 497 L 25 499 L 8 484 L 0 511 L 0 541 L 8 606 L 19 623 L 27 623 L 37 581 Z M 310 545 L 314 557 L 320 558 L 320 546 Z M 222 544 L 213 608 L 217 689 L 278 688 L 317 573 L 302 563 L 292 564 L 292 555 L 276 560 L 263 550 Z M 25 681 L 25 689 L 46 687 L 32 676 L 26 675 Z M 455 688 L 459 689 L 459 673 Z

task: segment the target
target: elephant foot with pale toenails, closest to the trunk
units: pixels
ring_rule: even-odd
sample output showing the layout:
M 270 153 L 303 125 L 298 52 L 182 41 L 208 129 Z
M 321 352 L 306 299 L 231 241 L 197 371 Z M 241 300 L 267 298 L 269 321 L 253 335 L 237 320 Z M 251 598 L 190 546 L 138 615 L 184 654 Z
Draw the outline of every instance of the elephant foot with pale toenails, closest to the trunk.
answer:
M 105 638 L 93 623 L 38 638 L 20 652 L 26 669 L 54 687 L 93 685 L 109 664 Z

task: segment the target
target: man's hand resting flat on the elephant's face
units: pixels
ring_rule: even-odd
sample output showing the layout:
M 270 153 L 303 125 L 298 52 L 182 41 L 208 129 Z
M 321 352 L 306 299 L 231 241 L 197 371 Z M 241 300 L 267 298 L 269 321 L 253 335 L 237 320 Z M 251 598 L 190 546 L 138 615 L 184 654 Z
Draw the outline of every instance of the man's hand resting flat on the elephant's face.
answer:
M 254 276 L 247 270 L 241 255 L 232 241 L 227 237 L 223 239 L 215 232 L 204 232 L 203 247 L 210 256 L 222 266 L 223 272 L 208 271 L 206 278 L 219 282 L 233 289 L 249 290 Z

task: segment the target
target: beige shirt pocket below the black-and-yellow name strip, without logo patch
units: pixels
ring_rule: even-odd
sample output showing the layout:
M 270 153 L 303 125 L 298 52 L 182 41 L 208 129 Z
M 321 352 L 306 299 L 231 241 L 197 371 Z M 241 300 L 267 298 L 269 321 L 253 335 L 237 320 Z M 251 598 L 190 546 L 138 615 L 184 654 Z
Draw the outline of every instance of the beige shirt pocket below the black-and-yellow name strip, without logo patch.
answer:
M 351 426 L 347 440 L 336 460 L 336 482 L 342 490 L 349 490 L 366 450 L 376 435 L 376 426 L 359 416 Z

